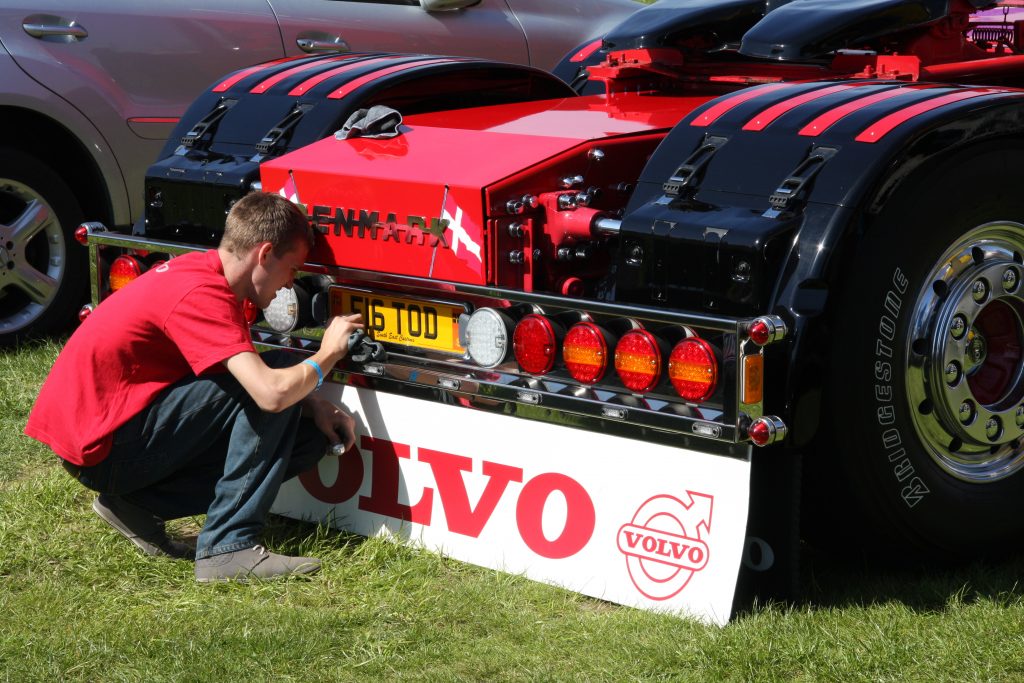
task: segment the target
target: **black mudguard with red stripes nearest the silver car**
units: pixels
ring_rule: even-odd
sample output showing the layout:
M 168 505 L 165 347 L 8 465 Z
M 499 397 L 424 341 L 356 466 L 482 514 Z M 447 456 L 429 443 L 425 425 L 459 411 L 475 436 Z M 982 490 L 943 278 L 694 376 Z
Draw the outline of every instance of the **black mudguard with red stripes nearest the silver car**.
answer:
M 188 108 L 150 167 L 135 232 L 216 244 L 261 162 L 334 134 L 358 109 L 412 115 L 574 95 L 530 67 L 423 54 L 330 54 L 234 72 Z

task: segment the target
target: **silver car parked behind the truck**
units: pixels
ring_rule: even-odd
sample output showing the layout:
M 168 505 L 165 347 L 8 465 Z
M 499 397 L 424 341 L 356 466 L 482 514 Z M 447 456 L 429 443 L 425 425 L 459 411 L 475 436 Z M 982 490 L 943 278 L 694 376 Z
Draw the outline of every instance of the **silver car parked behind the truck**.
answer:
M 633 0 L 0 2 L 0 345 L 83 299 L 84 220 L 127 225 L 187 105 L 224 74 L 327 50 L 480 56 L 551 69 Z

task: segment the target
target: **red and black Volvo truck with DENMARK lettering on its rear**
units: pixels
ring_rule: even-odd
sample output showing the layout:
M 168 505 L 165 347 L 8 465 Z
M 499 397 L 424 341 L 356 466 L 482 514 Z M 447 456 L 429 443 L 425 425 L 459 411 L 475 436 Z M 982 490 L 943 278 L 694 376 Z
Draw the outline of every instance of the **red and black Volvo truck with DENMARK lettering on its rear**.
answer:
M 92 307 L 304 207 L 260 348 L 372 343 L 356 444 L 275 510 L 727 621 L 802 539 L 967 560 L 1024 530 L 1024 22 L 989 0 L 658 0 L 552 73 L 350 53 L 225 75 Z

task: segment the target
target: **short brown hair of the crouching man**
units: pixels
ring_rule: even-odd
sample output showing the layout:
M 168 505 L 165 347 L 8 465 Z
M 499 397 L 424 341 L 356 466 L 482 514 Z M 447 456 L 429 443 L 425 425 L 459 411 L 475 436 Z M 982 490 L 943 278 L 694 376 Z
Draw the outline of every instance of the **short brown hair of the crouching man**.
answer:
M 240 255 L 269 242 L 280 258 L 303 241 L 312 249 L 313 239 L 309 219 L 297 206 L 280 195 L 249 193 L 227 213 L 220 246 Z

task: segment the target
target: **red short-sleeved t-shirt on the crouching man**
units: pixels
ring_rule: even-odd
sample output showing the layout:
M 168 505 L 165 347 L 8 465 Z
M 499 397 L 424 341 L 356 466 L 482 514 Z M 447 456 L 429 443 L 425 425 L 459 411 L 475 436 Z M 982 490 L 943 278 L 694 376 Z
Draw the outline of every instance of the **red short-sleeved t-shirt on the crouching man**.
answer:
M 216 250 L 152 268 L 75 331 L 57 356 L 25 433 L 76 465 L 111 452 L 118 427 L 161 390 L 254 351 L 242 302 Z

